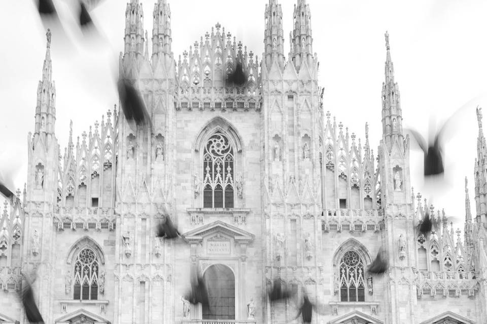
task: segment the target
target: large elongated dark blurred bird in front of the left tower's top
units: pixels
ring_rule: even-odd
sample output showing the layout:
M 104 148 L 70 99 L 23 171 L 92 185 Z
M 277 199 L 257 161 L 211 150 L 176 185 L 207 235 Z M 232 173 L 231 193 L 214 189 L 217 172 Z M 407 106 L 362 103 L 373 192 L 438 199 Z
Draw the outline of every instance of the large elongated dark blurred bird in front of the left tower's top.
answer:
M 120 96 L 123 114 L 129 124 L 135 124 L 144 128 L 151 125 L 151 118 L 147 112 L 144 100 L 140 92 L 130 84 L 129 80 L 119 79 L 118 94 Z

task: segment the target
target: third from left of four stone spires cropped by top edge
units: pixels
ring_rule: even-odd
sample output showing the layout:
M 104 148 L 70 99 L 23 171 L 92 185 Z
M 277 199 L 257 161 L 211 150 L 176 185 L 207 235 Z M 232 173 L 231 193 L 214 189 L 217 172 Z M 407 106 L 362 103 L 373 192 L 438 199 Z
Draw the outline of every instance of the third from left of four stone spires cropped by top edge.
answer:
M 273 62 L 284 68 L 283 11 L 277 0 L 265 5 L 264 58 L 267 68 Z

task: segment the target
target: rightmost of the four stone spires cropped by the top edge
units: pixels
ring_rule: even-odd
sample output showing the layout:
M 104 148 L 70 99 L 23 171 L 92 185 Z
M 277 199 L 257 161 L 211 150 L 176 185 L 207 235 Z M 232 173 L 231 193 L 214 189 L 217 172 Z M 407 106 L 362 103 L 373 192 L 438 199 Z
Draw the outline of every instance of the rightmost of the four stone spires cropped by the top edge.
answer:
M 311 65 L 313 59 L 313 38 L 311 35 L 311 11 L 306 0 L 294 5 L 293 32 L 291 34 L 291 57 L 299 69 L 303 62 Z

